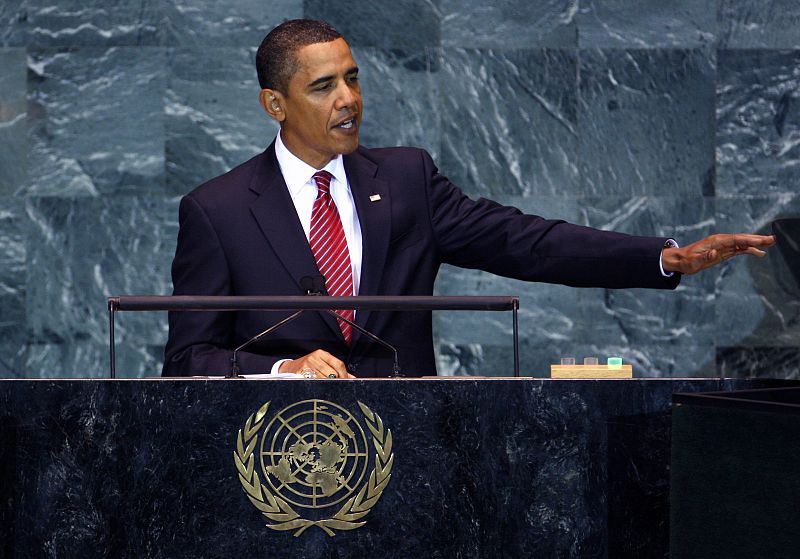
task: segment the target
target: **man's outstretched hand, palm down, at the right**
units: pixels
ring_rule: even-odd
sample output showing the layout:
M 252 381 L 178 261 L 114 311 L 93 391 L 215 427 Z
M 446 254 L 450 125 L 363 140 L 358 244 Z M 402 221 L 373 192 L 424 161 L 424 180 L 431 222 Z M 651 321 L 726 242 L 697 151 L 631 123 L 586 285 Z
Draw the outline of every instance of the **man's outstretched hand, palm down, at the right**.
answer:
M 775 244 L 772 235 L 711 235 L 681 248 L 664 248 L 661 262 L 666 272 L 694 274 L 740 254 L 762 257 L 761 250 Z

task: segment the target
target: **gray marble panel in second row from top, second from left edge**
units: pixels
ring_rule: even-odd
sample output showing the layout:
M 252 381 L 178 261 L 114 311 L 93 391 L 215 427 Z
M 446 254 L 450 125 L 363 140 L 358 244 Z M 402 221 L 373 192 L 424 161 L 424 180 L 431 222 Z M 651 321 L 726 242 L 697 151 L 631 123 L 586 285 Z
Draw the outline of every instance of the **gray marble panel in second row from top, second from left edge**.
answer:
M 28 88 L 31 176 L 23 194 L 163 191 L 161 48 L 36 51 Z

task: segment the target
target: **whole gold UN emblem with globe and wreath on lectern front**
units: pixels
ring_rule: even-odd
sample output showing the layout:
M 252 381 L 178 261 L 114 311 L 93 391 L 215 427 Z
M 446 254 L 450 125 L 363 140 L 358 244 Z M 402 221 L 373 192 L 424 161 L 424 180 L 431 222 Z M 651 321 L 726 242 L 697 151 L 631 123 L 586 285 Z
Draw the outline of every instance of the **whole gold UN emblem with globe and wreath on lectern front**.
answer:
M 358 402 L 367 437 L 333 402 L 303 400 L 267 418 L 269 404 L 247 418 L 233 453 L 242 488 L 267 528 L 299 536 L 317 526 L 333 536 L 366 524 L 394 464 L 392 433 L 380 416 Z

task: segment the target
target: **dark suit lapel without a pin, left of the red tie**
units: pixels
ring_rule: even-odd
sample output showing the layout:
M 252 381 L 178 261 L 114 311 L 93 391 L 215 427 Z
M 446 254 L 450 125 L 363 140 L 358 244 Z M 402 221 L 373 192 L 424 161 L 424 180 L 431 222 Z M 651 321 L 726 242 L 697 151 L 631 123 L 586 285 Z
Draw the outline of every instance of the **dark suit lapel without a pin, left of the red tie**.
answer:
M 250 205 L 250 212 L 297 285 L 297 294 L 300 294 L 300 278 L 320 275 L 319 269 L 280 172 L 274 142 L 267 148 L 262 161 L 250 181 L 250 190 L 258 194 L 258 198 Z M 344 343 L 336 319 L 324 312 L 319 316 Z

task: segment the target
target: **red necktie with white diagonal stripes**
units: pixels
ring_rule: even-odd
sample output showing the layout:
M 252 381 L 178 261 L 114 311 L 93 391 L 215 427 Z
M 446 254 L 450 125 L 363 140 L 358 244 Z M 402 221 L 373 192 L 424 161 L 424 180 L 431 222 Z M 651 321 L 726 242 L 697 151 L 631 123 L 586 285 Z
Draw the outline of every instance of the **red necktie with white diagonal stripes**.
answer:
M 331 175 L 328 171 L 314 173 L 317 183 L 317 199 L 311 210 L 311 233 L 309 244 L 317 260 L 319 273 L 325 277 L 328 295 L 341 297 L 353 294 L 353 269 L 350 266 L 350 251 L 339 217 L 339 210 L 331 198 Z M 348 320 L 355 318 L 352 309 L 337 310 L 336 314 Z M 343 320 L 337 320 L 347 345 L 353 339 L 353 327 Z

